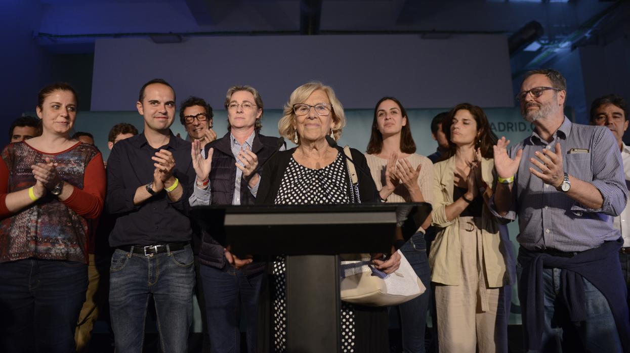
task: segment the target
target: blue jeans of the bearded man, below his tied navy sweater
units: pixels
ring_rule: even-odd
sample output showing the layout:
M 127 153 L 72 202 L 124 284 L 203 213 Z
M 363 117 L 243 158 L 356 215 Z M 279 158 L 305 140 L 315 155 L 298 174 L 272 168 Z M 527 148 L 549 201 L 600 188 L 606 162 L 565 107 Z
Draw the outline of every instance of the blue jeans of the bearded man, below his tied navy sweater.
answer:
M 519 261 L 517 264 L 519 279 L 524 275 L 522 271 Z M 623 352 L 615 319 L 604 294 L 587 279 L 583 279 L 587 319 L 580 325 L 575 325 L 569 318 L 562 296 L 559 295 L 561 269 L 544 268 L 542 271 L 545 327 L 540 352 Z M 524 307 L 523 311 L 525 310 L 527 308 Z M 525 325 L 523 329 L 525 330 Z

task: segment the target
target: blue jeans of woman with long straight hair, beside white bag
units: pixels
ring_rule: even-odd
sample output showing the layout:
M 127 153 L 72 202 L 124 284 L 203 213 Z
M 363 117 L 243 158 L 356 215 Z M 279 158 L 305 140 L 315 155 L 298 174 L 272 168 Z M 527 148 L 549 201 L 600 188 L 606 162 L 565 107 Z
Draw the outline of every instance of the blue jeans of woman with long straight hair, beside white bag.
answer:
M 415 233 L 403 247 L 401 252 L 413 267 L 427 290 L 417 298 L 407 301 L 398 308 L 403 334 L 403 352 L 425 352 L 425 326 L 427 310 L 431 302 L 431 270 L 427 259 L 427 248 L 422 233 Z

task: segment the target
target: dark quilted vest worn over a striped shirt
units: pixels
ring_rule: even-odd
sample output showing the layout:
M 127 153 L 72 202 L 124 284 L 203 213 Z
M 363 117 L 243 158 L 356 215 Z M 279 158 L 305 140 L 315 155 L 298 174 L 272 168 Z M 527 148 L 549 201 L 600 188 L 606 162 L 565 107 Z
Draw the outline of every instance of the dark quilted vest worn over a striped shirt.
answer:
M 251 152 L 258 157 L 258 165 L 265 163 L 273 152 L 278 148 L 278 137 L 266 137 L 256 133 L 252 143 Z M 211 205 L 232 205 L 234 198 L 234 179 L 236 179 L 236 159 L 230 147 L 230 133 L 213 142 L 205 145 L 205 155 L 208 155 L 210 148 L 214 148 L 212 154 L 212 168 L 210 169 L 210 189 L 212 194 Z M 268 164 L 258 170 L 261 182 L 268 170 Z M 260 186 L 259 186 L 260 188 Z M 248 184 L 241 178 L 241 205 L 253 205 L 254 196 L 249 192 Z M 202 264 L 222 268 L 226 264 L 223 254 L 224 246 L 207 232 L 203 233 L 199 261 Z M 248 274 L 263 271 L 264 264 L 253 263 L 245 267 Z

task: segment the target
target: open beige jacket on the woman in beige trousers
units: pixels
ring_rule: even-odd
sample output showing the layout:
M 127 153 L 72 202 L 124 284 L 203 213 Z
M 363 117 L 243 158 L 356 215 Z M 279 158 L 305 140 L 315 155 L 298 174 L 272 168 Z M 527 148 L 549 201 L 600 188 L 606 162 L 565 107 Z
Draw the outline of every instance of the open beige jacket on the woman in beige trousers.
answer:
M 438 162 L 434 166 L 433 197 L 435 203 L 432 223 L 438 228 L 431 245 L 429 264 L 431 281 L 457 286 L 462 272 L 462 251 L 459 241 L 459 217 L 447 220 L 445 207 L 453 203 L 453 178 L 455 157 Z M 493 159 L 481 159 L 481 179 L 490 187 L 494 186 Z M 494 189 L 494 188 L 493 188 Z M 498 288 L 509 283 L 505 274 L 505 259 L 501 254 L 501 237 L 495 216 L 484 205 L 481 211 L 481 240 L 483 242 L 483 264 L 489 288 Z

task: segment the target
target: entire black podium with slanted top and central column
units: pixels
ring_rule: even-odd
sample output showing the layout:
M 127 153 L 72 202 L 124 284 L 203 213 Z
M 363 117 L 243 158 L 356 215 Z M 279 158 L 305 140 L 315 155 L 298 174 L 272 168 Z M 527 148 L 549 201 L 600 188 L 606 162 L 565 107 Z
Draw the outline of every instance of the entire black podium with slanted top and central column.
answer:
M 192 212 L 236 255 L 287 256 L 287 352 L 310 353 L 340 352 L 339 254 L 389 253 L 397 224 L 407 240 L 431 205 L 202 206 Z

